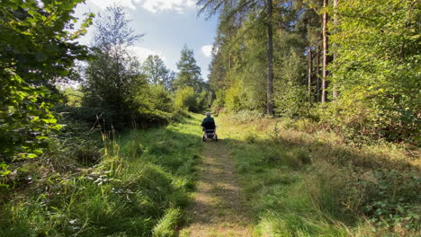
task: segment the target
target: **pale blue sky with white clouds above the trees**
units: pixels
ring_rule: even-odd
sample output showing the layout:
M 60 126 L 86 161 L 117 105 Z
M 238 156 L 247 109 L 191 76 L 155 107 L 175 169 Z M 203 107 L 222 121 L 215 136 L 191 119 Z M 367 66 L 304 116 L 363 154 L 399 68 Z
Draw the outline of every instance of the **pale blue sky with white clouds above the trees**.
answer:
M 197 16 L 196 0 L 86 0 L 78 4 L 76 16 L 82 20 L 84 13 L 101 13 L 114 3 L 124 7 L 130 27 L 145 36 L 132 48 L 143 61 L 148 55 L 158 55 L 166 66 L 177 71 L 176 63 L 184 44 L 193 49 L 202 77 L 208 78 L 211 45 L 216 35 L 217 17 L 206 21 Z M 89 44 L 94 27 L 79 41 Z

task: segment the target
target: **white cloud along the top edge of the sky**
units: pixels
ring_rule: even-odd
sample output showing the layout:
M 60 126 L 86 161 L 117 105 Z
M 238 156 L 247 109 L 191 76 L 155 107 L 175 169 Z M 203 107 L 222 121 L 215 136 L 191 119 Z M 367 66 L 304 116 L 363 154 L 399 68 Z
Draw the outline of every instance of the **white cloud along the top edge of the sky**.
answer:
M 143 7 L 151 13 L 162 11 L 176 11 L 183 13 L 186 8 L 192 8 L 195 0 L 91 0 L 94 4 L 105 8 L 114 3 L 123 7 L 136 10 L 138 6 Z

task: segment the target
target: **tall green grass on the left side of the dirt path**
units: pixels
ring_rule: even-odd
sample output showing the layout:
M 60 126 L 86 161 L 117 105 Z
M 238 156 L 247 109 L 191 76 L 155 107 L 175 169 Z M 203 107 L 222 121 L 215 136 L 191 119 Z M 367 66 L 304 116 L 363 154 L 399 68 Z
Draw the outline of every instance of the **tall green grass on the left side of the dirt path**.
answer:
M 67 157 L 72 169 L 2 202 L 0 236 L 175 236 L 201 159 L 199 124 L 127 131 L 107 140 L 100 162 Z

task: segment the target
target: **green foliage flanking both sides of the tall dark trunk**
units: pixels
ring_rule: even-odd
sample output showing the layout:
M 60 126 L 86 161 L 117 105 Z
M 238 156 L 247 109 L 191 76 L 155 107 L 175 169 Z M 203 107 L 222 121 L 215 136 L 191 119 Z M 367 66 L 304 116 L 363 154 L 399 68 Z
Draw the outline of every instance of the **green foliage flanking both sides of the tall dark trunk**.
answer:
M 203 2 L 218 6 L 219 1 Z M 273 33 L 274 102 L 279 115 L 301 116 L 308 110 L 307 106 L 302 106 L 307 105 L 307 97 L 301 98 L 306 90 L 303 84 L 305 63 L 300 56 L 305 45 L 304 32 L 283 26 L 288 21 L 300 21 L 300 4 L 291 7 L 282 6 L 282 1 L 273 4 L 277 11 L 273 22 L 278 21 L 286 28 Z M 210 84 L 215 91 L 225 91 L 223 98 L 219 99 L 217 95 L 217 100 L 224 100 L 223 104 L 231 111 L 266 110 L 267 34 L 262 29 L 268 22 L 260 13 L 262 5 L 232 3 L 221 7 L 223 21 L 219 23 L 214 45 L 218 50 L 211 63 Z M 242 16 L 244 20 L 239 23 L 229 18 L 240 9 L 246 11 Z

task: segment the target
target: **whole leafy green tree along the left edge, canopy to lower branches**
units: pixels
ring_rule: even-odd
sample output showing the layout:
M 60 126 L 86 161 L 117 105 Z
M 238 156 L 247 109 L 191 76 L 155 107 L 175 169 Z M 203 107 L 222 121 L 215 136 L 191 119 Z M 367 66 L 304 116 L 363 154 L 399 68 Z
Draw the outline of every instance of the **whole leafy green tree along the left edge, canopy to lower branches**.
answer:
M 58 129 L 51 108 L 58 101 L 54 83 L 73 73 L 76 59 L 88 49 L 77 40 L 72 15 L 82 0 L 12 1 L 0 4 L 0 175 L 4 161 L 36 157 L 48 147 L 49 131 Z

